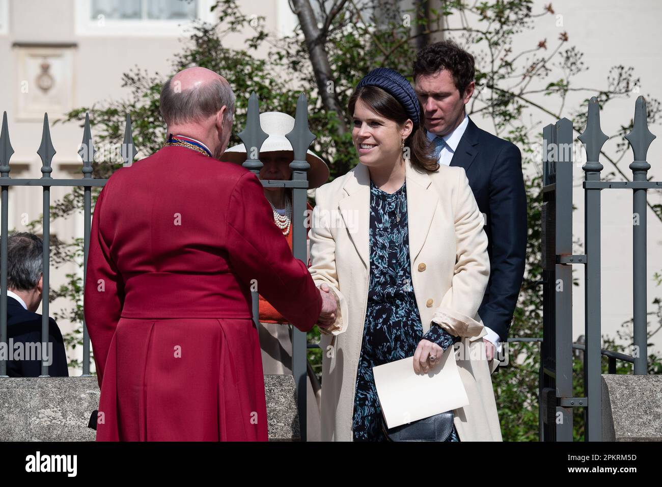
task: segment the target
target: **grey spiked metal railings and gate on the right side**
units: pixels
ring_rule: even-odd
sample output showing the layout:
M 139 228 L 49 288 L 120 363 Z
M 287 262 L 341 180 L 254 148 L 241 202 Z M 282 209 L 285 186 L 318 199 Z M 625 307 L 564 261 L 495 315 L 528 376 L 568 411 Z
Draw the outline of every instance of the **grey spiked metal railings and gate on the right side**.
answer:
M 573 126 L 561 119 L 543 129 L 543 337 L 540 362 L 540 439 L 573 440 L 573 407 L 585 409 L 586 441 L 602 440 L 601 370 L 602 355 L 608 356 L 610 374 L 616 373 L 616 360 L 634 362 L 634 373 L 647 374 L 647 282 L 646 233 L 648 189 L 662 189 L 662 182 L 647 180 L 651 168 L 646 162 L 649 145 L 655 138 L 648 130 L 646 103 L 638 97 L 634 125 L 626 135 L 634 161 L 632 181 L 608 182 L 600 179 L 603 169 L 600 151 L 608 136 L 600 129 L 600 108 L 596 97 L 589 101 L 587 125 L 577 137 L 586 148 L 585 254 L 573 254 Z M 633 190 L 633 282 L 634 352 L 632 356 L 600 349 L 600 191 Z M 585 346 L 573 345 L 572 270 L 585 271 Z M 573 348 L 583 349 L 585 397 L 573 397 Z

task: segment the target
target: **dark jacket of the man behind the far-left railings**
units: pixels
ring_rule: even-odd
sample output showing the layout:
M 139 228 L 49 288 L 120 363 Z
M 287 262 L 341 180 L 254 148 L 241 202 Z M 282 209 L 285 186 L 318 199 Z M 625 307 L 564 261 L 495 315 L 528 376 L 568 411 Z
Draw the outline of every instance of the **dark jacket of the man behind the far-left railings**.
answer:
M 25 309 L 19 301 L 7 296 L 7 338 L 13 343 L 40 343 L 42 315 Z M 54 319 L 48 318 L 48 341 L 53 344 L 52 364 L 48 375 L 68 377 L 67 356 L 62 333 Z M 41 360 L 7 360 L 7 375 L 10 377 L 38 377 L 41 375 Z

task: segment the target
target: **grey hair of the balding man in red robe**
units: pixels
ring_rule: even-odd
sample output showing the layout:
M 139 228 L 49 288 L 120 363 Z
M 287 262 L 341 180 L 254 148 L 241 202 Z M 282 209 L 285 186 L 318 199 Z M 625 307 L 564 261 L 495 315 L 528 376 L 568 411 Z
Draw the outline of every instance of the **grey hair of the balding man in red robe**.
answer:
M 234 93 L 220 80 L 182 90 L 172 78 L 161 89 L 161 115 L 167 125 L 199 122 L 228 107 L 224 117 L 234 116 Z

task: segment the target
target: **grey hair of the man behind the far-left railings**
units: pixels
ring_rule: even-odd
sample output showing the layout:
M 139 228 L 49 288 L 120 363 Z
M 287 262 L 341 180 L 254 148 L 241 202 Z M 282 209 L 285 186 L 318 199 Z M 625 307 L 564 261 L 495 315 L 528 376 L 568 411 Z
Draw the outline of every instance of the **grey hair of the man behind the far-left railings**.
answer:
M 7 238 L 7 288 L 29 291 L 43 272 L 44 243 L 32 233 L 11 233 Z

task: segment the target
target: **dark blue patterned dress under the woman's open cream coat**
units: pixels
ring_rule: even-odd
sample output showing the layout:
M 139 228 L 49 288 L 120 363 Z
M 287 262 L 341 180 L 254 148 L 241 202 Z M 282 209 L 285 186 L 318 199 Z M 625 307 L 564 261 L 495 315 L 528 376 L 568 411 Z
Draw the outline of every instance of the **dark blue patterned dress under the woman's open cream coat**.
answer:
M 434 323 L 423 335 L 411 284 L 405 184 L 389 194 L 370 182 L 369 242 L 370 281 L 352 430 L 354 441 L 386 441 L 373 366 L 413 356 L 422 339 L 446 350 L 459 337 Z M 455 426 L 447 441 L 459 441 Z

